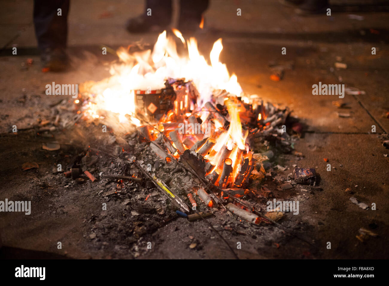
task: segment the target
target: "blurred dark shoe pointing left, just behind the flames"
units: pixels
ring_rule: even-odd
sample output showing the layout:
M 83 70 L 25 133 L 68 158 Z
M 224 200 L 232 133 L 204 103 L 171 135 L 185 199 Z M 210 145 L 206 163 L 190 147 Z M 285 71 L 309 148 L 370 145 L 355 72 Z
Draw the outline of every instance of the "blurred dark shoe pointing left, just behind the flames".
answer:
M 166 15 L 165 19 L 151 18 L 151 16 L 140 15 L 131 18 L 126 23 L 126 29 L 130 33 L 145 33 L 145 32 L 163 32 L 170 24 L 170 16 Z

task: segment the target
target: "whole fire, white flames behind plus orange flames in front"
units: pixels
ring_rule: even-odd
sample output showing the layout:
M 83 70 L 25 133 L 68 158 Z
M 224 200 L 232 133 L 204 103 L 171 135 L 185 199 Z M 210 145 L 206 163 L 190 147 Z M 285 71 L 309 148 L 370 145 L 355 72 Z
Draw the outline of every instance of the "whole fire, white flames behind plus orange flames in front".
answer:
M 152 51 L 130 53 L 131 46 L 120 48 L 117 55 L 122 63 L 112 65 L 111 77 L 90 86 L 92 96 L 84 101 L 84 115 L 89 119 L 110 120 L 112 118 L 108 117 L 112 112 L 116 114 L 118 124 L 131 123 L 140 127 L 142 122 L 137 117 L 135 101 L 144 95 L 165 96 L 161 90 L 166 92 L 165 82 L 168 80 L 174 90 L 174 103 L 170 111 L 161 114 L 155 126 L 172 141 L 173 150 L 170 152 L 173 157 L 178 158 L 186 149 L 202 153 L 209 165 L 206 174 L 212 175 L 215 184 L 223 188 L 240 188 L 251 173 L 255 160 L 246 144 L 248 130 L 242 130 L 240 119 L 240 114 L 245 113 L 242 105 L 247 98 L 237 99 L 242 93 L 237 76 L 230 75 L 226 65 L 219 60 L 222 39 L 214 43 L 209 63 L 198 51 L 195 38 L 185 40 L 179 30 L 172 31 L 186 47 L 187 56 L 179 56 L 175 38 L 168 37 L 166 31 L 158 36 Z M 170 79 L 174 80 L 170 82 Z M 223 93 L 217 100 L 220 106 L 226 107 L 224 111 L 216 109 L 217 102 L 212 102 L 216 90 Z M 158 108 L 149 103 L 145 103 L 144 109 L 146 107 L 151 113 Z M 261 114 L 258 119 L 261 119 Z M 200 125 L 194 129 L 197 132 L 177 133 L 177 122 L 183 121 L 193 126 Z M 210 134 L 202 134 L 209 129 Z M 154 133 L 149 139 L 155 140 L 156 137 Z M 169 160 L 166 157 L 166 161 Z

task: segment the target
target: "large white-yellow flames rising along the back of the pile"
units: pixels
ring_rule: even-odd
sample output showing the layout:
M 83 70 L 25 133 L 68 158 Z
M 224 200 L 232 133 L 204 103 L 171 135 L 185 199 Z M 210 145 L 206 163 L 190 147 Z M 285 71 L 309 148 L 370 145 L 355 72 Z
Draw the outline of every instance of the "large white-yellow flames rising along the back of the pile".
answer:
M 173 29 L 173 33 L 185 44 L 179 30 Z M 91 86 L 90 93 L 95 97 L 84 106 L 86 114 L 100 118 L 99 111 L 111 111 L 118 114 L 120 122 L 126 121 L 126 114 L 135 114 L 134 91 L 164 88 L 167 78 L 193 81 L 200 94 L 197 100 L 199 107 L 210 99 L 214 89 L 225 89 L 231 94 L 240 95 L 242 88 L 237 76 L 230 76 L 226 65 L 219 62 L 223 49 L 221 39 L 214 43 L 210 53 L 211 65 L 199 53 L 195 38 L 190 38 L 186 43 L 187 57 L 178 56 L 175 41 L 167 37 L 166 31 L 158 36 L 152 51 L 129 53 L 128 49 L 120 48 L 117 55 L 123 63 L 110 68 L 111 77 Z M 178 107 L 181 107 L 180 103 Z

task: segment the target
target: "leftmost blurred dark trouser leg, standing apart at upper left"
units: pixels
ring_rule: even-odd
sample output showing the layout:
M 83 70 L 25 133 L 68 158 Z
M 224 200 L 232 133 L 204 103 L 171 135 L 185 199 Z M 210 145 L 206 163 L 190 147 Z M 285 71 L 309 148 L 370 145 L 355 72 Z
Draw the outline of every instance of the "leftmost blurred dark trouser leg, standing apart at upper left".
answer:
M 34 0 L 35 35 L 40 51 L 65 49 L 70 0 Z M 61 16 L 58 16 L 61 9 Z

